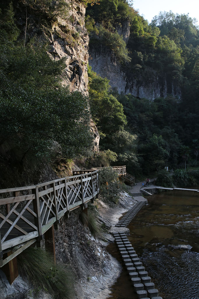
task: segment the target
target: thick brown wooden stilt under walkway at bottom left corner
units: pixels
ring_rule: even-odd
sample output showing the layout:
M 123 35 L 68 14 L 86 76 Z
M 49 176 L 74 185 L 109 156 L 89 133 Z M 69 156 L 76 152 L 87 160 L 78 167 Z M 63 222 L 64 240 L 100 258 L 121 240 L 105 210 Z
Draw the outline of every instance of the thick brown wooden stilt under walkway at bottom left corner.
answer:
M 12 254 L 12 251 L 9 251 L 4 254 L 4 258 L 9 257 Z M 10 260 L 7 264 L 5 264 L 3 267 L 1 267 L 2 271 L 5 273 L 8 281 L 10 284 L 13 283 L 13 281 L 18 277 L 18 266 L 17 266 L 17 258 L 14 257 L 12 260 Z

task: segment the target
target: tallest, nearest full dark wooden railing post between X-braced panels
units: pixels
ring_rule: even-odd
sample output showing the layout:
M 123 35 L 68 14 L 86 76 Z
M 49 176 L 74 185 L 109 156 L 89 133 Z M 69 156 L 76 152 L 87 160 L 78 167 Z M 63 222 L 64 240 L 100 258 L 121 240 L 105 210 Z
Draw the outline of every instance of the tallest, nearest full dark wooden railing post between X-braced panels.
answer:
M 44 235 L 42 235 L 41 230 L 41 214 L 40 214 L 40 205 L 39 205 L 39 191 L 36 186 L 35 189 L 32 189 L 32 193 L 35 194 L 35 199 L 33 199 L 33 210 L 36 213 L 37 217 L 35 217 L 35 225 L 38 228 L 39 236 L 37 238 L 37 247 L 45 248 Z

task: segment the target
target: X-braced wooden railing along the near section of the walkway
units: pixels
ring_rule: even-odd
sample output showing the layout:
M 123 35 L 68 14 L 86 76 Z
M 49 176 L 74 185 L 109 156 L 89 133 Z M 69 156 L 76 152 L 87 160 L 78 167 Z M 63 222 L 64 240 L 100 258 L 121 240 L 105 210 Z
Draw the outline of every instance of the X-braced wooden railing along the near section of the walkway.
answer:
M 0 190 L 0 266 L 2 251 L 35 239 L 64 214 L 87 202 L 99 192 L 98 171 L 49 181 L 29 187 Z

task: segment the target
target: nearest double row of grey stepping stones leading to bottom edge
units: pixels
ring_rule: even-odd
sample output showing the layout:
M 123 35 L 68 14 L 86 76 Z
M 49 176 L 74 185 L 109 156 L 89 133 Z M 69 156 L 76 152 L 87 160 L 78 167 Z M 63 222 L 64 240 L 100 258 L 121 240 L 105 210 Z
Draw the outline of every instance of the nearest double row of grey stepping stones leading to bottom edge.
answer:
M 143 205 L 144 203 L 140 202 L 136 206 L 134 205 L 134 208 L 129 210 L 130 214 L 136 212 L 135 214 L 133 214 L 132 219 L 143 207 Z M 148 276 L 148 272 L 145 271 L 144 266 L 142 266 L 142 263 L 140 262 L 138 255 L 135 253 L 134 248 L 130 244 L 127 235 L 118 232 L 113 233 L 113 237 L 115 238 L 115 241 L 118 245 L 123 263 L 128 271 L 129 279 L 132 281 L 132 285 L 134 287 L 135 293 L 137 294 L 137 298 L 163 299 L 162 297 L 158 296 L 158 290 L 155 289 L 154 283 L 151 282 L 151 277 Z M 129 247 L 127 247 L 128 245 Z

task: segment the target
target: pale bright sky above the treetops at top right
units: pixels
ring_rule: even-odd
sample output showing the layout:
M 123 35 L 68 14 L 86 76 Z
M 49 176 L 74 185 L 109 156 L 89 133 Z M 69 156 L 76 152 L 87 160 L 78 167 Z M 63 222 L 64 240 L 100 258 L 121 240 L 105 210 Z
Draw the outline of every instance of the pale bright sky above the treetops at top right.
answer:
M 187 14 L 196 18 L 199 25 L 199 1 L 198 0 L 133 0 L 133 8 L 139 10 L 139 14 L 149 23 L 160 11 L 172 10 L 173 13 Z

